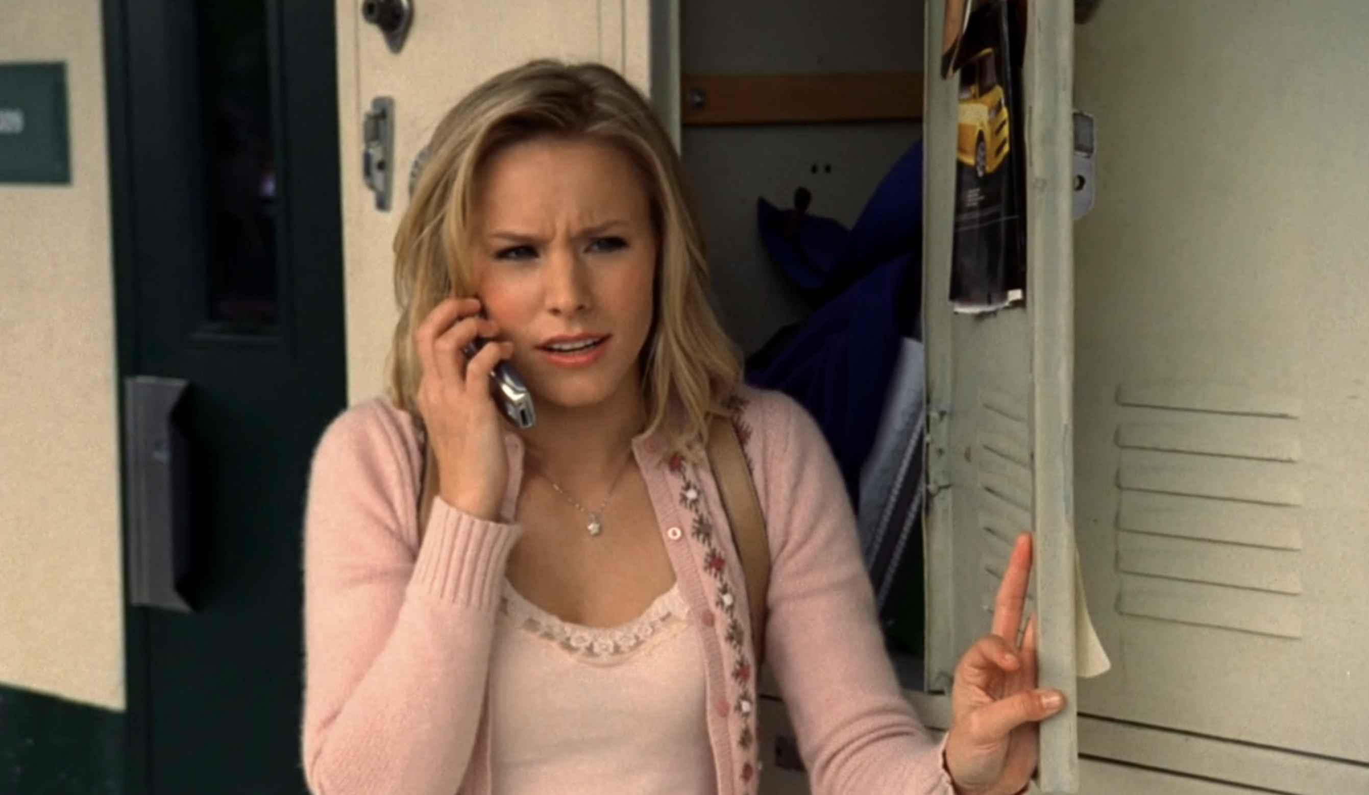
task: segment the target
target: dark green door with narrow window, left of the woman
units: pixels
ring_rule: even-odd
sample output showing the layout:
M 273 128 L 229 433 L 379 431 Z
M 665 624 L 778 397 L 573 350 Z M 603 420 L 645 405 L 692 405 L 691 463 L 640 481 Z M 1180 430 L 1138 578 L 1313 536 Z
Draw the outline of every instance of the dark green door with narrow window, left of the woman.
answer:
M 104 11 L 120 376 L 185 385 L 171 447 L 123 395 L 127 791 L 304 792 L 304 488 L 345 404 L 334 0 Z M 149 491 L 159 467 L 183 478 Z

